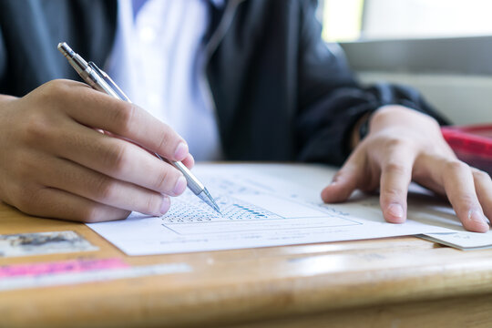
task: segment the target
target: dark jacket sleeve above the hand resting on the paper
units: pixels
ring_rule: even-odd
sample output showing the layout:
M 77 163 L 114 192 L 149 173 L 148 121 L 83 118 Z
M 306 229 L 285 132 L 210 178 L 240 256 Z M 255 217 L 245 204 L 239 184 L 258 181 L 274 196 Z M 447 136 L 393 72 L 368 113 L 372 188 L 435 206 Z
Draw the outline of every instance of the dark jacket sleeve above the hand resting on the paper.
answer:
M 361 87 L 343 50 L 326 44 L 315 18 L 317 1 L 301 1 L 299 103 L 295 123 L 299 159 L 341 165 L 350 153 L 350 135 L 359 118 L 384 105 L 413 108 L 446 124 L 418 91 L 380 83 Z

